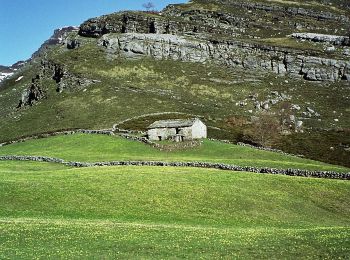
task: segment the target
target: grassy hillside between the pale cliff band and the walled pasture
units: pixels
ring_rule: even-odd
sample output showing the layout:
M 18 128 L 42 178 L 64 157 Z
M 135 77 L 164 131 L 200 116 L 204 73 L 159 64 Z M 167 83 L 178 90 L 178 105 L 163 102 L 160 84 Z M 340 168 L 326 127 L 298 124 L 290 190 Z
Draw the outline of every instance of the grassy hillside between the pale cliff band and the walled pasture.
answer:
M 44 80 L 47 97 L 32 107 L 16 109 L 24 89 L 40 71 L 39 61 L 33 62 L 0 88 L 0 142 L 59 129 L 110 128 L 134 116 L 164 111 L 202 116 L 208 126 L 221 129 L 209 132 L 210 137 L 242 141 L 251 117 L 258 116 L 249 97 L 255 95 L 264 101 L 272 91 L 278 91 L 290 97 L 288 104 L 300 105 L 301 110 L 293 112 L 297 118 L 304 117 L 306 107 L 312 107 L 321 118 L 304 118 L 303 134 L 284 136 L 274 145 L 311 159 L 349 166 L 349 152 L 344 150 L 350 145 L 350 121 L 345 116 L 350 88 L 346 83 L 321 87 L 319 83 L 257 71 L 223 70 L 214 64 L 154 62 L 147 58 L 110 60 L 97 46 L 98 40 L 78 39 L 80 48 L 55 47 L 48 51 L 47 58 L 64 64 L 74 75 L 96 82 L 57 93 L 56 83 Z M 24 78 L 15 82 L 20 75 Z M 241 101 L 247 105 L 237 105 Z M 270 112 L 278 116 L 281 105 L 271 106 Z M 231 124 L 232 118 L 241 124 Z

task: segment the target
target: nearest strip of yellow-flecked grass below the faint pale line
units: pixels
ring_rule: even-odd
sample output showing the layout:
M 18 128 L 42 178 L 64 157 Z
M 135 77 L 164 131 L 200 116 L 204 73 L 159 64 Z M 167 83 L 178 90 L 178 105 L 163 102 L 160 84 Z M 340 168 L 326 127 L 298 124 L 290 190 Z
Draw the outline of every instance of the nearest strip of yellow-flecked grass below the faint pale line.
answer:
M 6 259 L 346 259 L 349 228 L 193 228 L 104 221 L 1 221 Z

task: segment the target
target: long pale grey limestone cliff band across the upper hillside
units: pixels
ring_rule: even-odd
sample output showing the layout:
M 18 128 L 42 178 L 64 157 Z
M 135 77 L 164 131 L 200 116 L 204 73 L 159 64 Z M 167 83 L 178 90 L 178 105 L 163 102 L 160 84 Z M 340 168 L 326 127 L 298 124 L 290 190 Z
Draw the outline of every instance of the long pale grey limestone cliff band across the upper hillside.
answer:
M 187 62 L 289 74 L 313 81 L 350 80 L 350 61 L 305 56 L 303 51 L 242 41 L 203 41 L 166 34 L 104 35 L 100 44 L 112 57 L 151 56 Z

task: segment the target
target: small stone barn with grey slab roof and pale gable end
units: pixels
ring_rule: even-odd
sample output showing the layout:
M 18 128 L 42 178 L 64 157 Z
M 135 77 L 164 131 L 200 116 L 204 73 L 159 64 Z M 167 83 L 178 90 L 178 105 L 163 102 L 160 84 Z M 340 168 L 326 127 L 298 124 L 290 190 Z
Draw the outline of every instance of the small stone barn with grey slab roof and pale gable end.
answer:
M 207 138 L 207 126 L 198 118 L 156 121 L 148 127 L 148 139 L 151 141 L 185 140 Z

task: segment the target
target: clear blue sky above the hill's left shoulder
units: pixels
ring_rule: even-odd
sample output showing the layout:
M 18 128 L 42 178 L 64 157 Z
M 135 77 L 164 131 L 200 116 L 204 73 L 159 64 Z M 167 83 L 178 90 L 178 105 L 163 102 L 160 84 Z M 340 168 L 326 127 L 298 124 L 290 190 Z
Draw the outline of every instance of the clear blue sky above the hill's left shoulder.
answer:
M 142 10 L 148 0 L 0 0 L 0 64 L 30 58 L 54 29 L 119 10 Z M 157 10 L 186 0 L 154 0 Z

